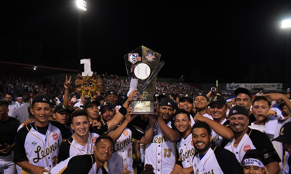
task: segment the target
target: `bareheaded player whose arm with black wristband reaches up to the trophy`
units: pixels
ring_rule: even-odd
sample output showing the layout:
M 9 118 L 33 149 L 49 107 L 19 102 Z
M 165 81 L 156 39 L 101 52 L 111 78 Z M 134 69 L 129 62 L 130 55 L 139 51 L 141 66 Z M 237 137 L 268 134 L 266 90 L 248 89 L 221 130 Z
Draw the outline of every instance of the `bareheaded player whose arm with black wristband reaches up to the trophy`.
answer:
M 95 140 L 97 139 L 97 137 L 99 137 L 100 135 L 106 132 L 112 131 L 124 118 L 124 116 L 126 115 L 125 108 L 128 108 L 130 104 L 129 100 L 132 100 L 132 98 L 137 95 L 136 91 L 137 90 L 132 91 L 128 97 L 128 100 L 123 104 L 122 110 L 125 110 L 125 112 L 118 112 L 115 114 L 114 107 L 111 103 L 107 104 L 107 102 L 104 102 L 101 105 L 101 108 L 100 108 L 101 113 L 104 109 L 111 108 L 112 113 L 110 114 L 112 115 L 110 115 L 111 117 L 110 119 L 109 117 L 107 117 L 108 120 L 106 120 L 106 116 L 104 115 L 105 119 L 103 118 L 103 120 L 105 122 L 104 124 L 102 124 L 100 129 L 97 126 L 90 129 L 90 122 L 89 122 L 90 118 L 88 117 L 87 113 L 84 112 L 84 110 L 74 111 L 71 114 L 71 120 L 72 120 L 71 128 L 75 131 L 75 134 L 73 134 L 67 141 L 64 141 L 61 144 L 60 153 L 58 155 L 59 162 L 69 157 L 72 157 L 74 155 L 92 153 L 93 146 L 95 144 Z M 95 104 L 95 102 L 98 102 L 98 101 L 90 100 L 87 102 L 91 102 L 92 104 Z M 113 138 L 113 139 L 114 141 L 116 141 L 118 138 L 119 137 Z

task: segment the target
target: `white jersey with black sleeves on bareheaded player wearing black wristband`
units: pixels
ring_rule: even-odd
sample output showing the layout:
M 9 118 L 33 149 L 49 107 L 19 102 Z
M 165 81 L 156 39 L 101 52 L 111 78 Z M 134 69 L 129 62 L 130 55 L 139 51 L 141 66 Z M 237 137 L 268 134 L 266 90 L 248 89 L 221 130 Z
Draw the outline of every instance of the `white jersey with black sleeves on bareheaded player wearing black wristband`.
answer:
M 97 129 L 97 127 L 91 128 L 88 132 L 88 141 L 86 146 L 79 145 L 76 142 L 73 134 L 70 138 L 61 143 L 61 147 L 58 153 L 58 163 L 75 155 L 93 153 L 93 146 L 95 145 L 96 139 L 100 137 L 100 135 L 106 133 L 107 130 L 107 123 L 102 125 L 101 129 Z

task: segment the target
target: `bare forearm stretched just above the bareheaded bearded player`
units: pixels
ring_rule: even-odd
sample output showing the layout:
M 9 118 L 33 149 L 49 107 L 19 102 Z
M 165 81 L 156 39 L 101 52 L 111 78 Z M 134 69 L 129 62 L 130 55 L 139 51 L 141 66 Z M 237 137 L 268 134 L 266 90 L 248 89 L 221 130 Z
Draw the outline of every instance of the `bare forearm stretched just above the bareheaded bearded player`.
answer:
M 221 125 L 214 120 L 205 118 L 205 123 L 207 123 L 211 129 L 216 132 L 219 136 L 223 137 L 226 140 L 231 140 L 234 137 L 232 130 L 224 125 Z

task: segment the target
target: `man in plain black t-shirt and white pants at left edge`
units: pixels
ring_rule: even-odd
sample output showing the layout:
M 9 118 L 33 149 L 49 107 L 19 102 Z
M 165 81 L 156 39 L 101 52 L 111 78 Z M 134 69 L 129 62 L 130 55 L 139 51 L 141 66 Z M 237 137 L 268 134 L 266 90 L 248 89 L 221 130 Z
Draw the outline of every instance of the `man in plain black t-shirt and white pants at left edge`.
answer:
M 8 116 L 8 104 L 0 101 L 0 173 L 14 174 L 13 162 L 14 140 L 20 122 Z

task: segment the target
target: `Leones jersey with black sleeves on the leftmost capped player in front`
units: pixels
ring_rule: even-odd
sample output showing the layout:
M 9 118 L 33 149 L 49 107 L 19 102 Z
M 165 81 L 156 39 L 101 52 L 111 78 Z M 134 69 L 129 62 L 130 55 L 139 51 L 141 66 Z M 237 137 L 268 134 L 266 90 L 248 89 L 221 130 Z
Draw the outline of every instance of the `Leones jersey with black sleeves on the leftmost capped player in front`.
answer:
M 52 168 L 58 163 L 61 142 L 67 138 L 67 129 L 59 122 L 49 121 L 43 128 L 35 127 L 32 122 L 17 132 L 14 162 L 29 161 L 36 166 Z M 22 172 L 25 171 L 22 169 Z

